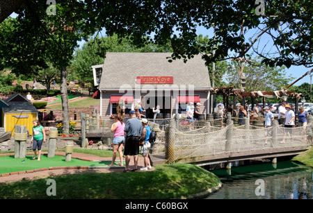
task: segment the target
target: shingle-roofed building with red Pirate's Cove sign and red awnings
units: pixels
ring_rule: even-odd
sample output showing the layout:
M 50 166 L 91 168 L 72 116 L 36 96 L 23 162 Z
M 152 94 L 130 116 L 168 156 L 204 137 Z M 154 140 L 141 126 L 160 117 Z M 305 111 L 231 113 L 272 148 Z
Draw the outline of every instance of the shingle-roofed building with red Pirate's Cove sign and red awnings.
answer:
M 125 100 L 126 113 L 140 101 L 147 118 L 153 118 L 152 108 L 157 105 L 163 114 L 185 114 L 189 102 L 201 103 L 200 111 L 209 113 L 211 84 L 205 61 L 195 56 L 186 63 L 178 59 L 168 62 L 170 56 L 171 53 L 106 53 L 102 74 L 97 74 L 101 79 L 101 116 L 116 113 L 119 99 Z

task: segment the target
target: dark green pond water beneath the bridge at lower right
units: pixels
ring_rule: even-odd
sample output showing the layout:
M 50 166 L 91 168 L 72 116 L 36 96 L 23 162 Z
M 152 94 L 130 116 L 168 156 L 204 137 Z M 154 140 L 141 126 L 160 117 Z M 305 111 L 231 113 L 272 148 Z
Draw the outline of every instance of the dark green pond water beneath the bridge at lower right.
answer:
M 207 199 L 312 199 L 313 169 L 285 161 L 212 170 L 222 189 Z

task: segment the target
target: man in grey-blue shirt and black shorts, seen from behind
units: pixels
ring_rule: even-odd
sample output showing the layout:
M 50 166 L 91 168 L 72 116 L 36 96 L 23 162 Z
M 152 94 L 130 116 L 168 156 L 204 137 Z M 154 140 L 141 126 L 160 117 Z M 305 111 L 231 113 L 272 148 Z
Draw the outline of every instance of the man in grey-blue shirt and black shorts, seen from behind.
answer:
M 125 172 L 129 171 L 129 162 L 130 162 L 130 155 L 134 155 L 134 169 L 136 171 L 138 169 L 138 153 L 139 153 L 139 138 L 141 133 L 141 121 L 136 118 L 136 112 L 134 110 L 129 111 L 131 119 L 125 124 L 125 135 L 126 135 L 126 142 L 125 142 Z

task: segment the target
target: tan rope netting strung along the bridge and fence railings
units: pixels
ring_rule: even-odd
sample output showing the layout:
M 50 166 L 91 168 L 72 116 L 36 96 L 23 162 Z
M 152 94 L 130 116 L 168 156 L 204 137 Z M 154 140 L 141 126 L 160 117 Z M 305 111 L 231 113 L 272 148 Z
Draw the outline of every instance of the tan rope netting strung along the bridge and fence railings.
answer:
M 125 123 L 127 119 L 124 119 Z M 157 132 L 151 152 L 165 152 L 166 159 L 176 162 L 189 157 L 312 145 L 312 121 L 306 127 L 285 128 L 277 123 L 264 128 L 259 123 L 258 126 L 252 125 L 256 122 L 249 119 L 244 120 L 244 125 L 239 125 L 236 119 L 224 120 L 223 123 L 221 118 L 205 121 L 148 119 L 150 128 Z M 114 122 L 113 119 L 90 117 L 86 125 L 89 132 L 102 131 L 113 137 L 110 130 Z

